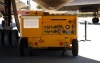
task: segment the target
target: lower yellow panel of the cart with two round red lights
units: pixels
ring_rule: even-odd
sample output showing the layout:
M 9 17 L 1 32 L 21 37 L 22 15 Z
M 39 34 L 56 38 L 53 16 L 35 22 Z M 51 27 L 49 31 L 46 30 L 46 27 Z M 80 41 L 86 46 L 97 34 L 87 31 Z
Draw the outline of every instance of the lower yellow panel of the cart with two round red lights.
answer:
M 29 38 L 28 41 L 33 44 L 31 47 L 70 47 L 73 37 L 75 35 L 43 35 L 40 38 Z M 39 42 L 39 40 L 43 40 L 43 42 Z M 38 46 L 35 45 L 35 42 L 38 42 Z M 60 46 L 60 42 L 63 42 L 62 46 Z

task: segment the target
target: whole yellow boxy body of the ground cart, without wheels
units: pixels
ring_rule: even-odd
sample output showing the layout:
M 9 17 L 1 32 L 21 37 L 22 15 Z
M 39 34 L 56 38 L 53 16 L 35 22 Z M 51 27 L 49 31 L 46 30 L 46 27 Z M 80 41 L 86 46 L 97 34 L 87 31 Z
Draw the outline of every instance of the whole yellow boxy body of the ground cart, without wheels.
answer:
M 34 28 L 36 24 L 29 22 L 33 22 L 35 18 L 36 16 L 21 17 L 21 37 L 28 38 L 30 47 L 70 47 L 72 40 L 77 38 L 77 16 L 42 16 L 38 18 L 39 27 Z M 31 26 L 25 19 L 33 19 L 28 22 Z M 29 26 L 25 26 L 25 24 Z M 67 29 L 67 25 L 70 28 Z M 35 45 L 36 42 L 38 45 Z M 60 42 L 63 43 L 62 46 Z

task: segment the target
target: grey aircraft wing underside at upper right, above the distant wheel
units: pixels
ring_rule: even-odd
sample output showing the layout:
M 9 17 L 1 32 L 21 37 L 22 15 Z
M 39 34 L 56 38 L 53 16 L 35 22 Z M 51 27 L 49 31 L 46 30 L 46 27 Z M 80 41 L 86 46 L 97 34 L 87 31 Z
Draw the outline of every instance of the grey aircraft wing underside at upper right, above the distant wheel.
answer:
M 74 0 L 59 10 L 80 10 L 81 12 L 94 12 L 100 9 L 100 0 Z

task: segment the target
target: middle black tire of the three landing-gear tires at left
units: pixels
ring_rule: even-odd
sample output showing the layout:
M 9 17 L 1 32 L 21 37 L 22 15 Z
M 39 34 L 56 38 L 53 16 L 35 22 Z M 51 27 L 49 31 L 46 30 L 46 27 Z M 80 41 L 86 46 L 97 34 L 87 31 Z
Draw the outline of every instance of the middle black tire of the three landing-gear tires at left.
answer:
M 11 31 L 4 30 L 4 45 L 5 47 L 10 47 L 11 45 Z

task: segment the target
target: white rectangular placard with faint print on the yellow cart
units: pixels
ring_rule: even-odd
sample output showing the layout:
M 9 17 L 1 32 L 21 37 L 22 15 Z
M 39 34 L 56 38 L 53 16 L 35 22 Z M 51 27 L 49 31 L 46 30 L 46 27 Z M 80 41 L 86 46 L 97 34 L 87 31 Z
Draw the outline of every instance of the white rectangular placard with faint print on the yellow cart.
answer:
M 24 28 L 39 28 L 39 19 L 25 18 Z

